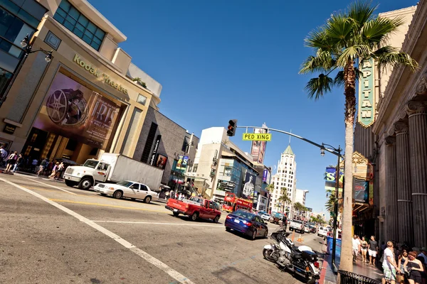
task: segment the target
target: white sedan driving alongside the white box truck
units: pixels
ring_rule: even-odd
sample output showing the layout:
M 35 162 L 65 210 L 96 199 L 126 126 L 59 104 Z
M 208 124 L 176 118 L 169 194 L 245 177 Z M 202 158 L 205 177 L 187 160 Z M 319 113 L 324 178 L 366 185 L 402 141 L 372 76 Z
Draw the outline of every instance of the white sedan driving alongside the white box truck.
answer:
M 103 196 L 111 195 L 117 199 L 128 197 L 132 200 L 144 200 L 145 203 L 159 200 L 159 194 L 150 190 L 147 185 L 130 180 L 124 180 L 117 184 L 98 183 L 93 189 Z

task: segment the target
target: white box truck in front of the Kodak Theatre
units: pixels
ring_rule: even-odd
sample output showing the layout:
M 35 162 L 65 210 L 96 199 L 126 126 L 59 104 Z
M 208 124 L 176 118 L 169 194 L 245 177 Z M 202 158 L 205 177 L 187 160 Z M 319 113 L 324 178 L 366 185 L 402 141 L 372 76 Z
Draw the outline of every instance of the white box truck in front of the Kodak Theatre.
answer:
M 100 160 L 89 159 L 83 165 L 73 165 L 65 170 L 65 185 L 78 185 L 89 190 L 96 182 L 122 182 L 132 180 L 152 189 L 159 188 L 163 170 L 152 165 L 127 158 L 125 155 L 103 153 Z

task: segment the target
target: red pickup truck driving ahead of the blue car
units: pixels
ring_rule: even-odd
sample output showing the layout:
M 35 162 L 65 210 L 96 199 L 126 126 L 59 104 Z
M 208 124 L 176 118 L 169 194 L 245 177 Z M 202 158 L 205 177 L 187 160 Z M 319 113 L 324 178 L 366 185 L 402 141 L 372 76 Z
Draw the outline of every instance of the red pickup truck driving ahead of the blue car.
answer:
M 215 223 L 218 223 L 221 217 L 218 204 L 200 197 L 190 197 L 189 200 L 169 198 L 165 208 L 171 210 L 175 217 L 178 217 L 179 214 L 188 215 L 191 221 L 201 218 L 212 219 Z

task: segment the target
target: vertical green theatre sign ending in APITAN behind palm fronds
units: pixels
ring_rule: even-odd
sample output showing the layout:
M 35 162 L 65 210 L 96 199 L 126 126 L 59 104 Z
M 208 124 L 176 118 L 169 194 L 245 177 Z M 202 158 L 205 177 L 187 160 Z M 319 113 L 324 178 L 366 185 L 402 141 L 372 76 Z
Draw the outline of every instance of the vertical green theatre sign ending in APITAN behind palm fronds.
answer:
M 359 68 L 362 77 L 359 80 L 359 111 L 357 121 L 364 127 L 369 127 L 374 123 L 375 101 L 374 101 L 374 60 L 364 61 Z

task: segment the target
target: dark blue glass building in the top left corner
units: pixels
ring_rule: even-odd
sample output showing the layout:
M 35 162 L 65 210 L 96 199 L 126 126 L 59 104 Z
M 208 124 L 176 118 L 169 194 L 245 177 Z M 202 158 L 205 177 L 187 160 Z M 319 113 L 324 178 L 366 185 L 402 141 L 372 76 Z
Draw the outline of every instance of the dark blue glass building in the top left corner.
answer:
M 24 56 L 21 40 L 37 31 L 47 11 L 36 0 L 0 2 L 0 105 Z

